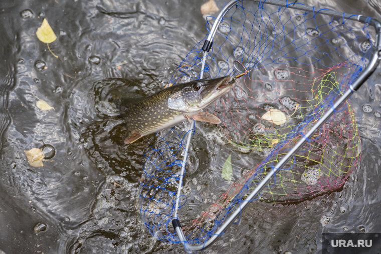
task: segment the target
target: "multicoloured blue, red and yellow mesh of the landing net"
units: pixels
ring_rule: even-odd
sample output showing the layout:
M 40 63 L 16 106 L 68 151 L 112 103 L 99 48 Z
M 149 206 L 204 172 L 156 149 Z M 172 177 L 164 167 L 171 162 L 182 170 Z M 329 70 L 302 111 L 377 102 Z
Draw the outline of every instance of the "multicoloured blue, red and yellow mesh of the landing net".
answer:
M 232 181 L 221 178 L 221 158 L 216 160 L 222 163 L 203 165 L 191 158 L 185 164 L 185 172 L 213 169 L 199 174 L 199 179 L 184 174 L 179 218 L 189 243 L 203 244 L 211 237 L 369 63 L 374 43 L 370 26 L 293 7 L 237 2 L 219 25 L 211 51 L 202 51 L 202 40 L 171 79 L 171 83 L 187 82 L 199 79 L 202 72 L 204 78 L 236 75 L 234 60 L 251 70 L 229 94 L 207 108 L 222 123 L 202 125 L 200 130 L 204 138 L 218 140 L 214 154 L 229 151 L 236 158 Z M 208 17 L 207 28 L 215 22 Z M 143 222 L 167 242 L 179 242 L 171 219 L 185 140 L 195 133 L 184 126 L 156 134 L 156 142 L 145 154 L 140 186 Z M 358 165 L 360 151 L 353 112 L 345 102 L 256 199 L 290 203 L 338 190 Z M 214 178 L 204 181 L 209 173 Z

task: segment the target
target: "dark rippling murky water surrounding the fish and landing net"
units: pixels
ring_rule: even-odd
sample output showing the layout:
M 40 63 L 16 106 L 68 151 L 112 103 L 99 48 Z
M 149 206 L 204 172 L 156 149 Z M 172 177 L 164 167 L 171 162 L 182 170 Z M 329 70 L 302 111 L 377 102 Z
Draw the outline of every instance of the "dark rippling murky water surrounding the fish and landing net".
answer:
M 125 146 L 128 130 L 102 101 L 113 91 L 139 97 L 162 88 L 206 34 L 203 2 L 0 4 L 0 133 L 7 127 L 0 143 L 0 250 L 182 250 L 145 231 L 135 206 L 142 155 L 155 137 L 144 137 L 133 149 Z M 222 7 L 224 1 L 217 3 Z M 377 1 L 355 5 L 319 3 L 381 20 Z M 35 36 L 44 17 L 58 37 L 50 49 L 59 58 Z M 351 99 L 362 159 L 343 190 L 297 205 L 253 203 L 205 252 L 316 252 L 322 232 L 379 232 L 380 70 Z M 33 94 L 55 110 L 39 110 Z M 29 166 L 24 150 L 45 144 L 55 149 L 53 161 Z M 196 151 L 198 161 L 203 152 Z

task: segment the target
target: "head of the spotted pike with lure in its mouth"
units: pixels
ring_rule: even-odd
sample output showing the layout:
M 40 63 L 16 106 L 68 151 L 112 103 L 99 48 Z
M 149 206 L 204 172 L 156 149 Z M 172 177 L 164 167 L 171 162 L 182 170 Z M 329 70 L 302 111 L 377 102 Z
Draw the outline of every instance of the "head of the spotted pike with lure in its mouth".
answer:
M 183 113 L 198 112 L 229 92 L 234 84 L 230 76 L 179 84 L 168 97 L 168 108 Z

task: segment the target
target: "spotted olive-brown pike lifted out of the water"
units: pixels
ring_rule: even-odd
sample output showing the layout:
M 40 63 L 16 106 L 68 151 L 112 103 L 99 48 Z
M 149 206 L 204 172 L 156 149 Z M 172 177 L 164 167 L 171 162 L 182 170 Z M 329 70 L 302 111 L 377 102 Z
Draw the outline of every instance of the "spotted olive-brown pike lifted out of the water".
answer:
M 174 85 L 137 102 L 123 105 L 123 118 L 131 135 L 124 142 L 129 144 L 139 138 L 192 118 L 214 124 L 221 120 L 201 111 L 222 95 L 229 92 L 235 79 L 225 76 Z

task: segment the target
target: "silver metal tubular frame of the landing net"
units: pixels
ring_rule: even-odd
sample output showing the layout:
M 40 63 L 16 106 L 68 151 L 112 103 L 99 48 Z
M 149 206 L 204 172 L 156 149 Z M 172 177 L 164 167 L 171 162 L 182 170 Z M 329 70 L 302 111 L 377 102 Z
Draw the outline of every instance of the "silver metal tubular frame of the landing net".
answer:
M 244 0 L 241 0 L 241 2 L 243 1 Z M 368 66 L 359 74 L 359 76 L 349 86 L 349 89 L 335 102 L 335 104 L 327 112 L 323 114 L 323 116 L 311 127 L 311 129 L 302 137 L 302 139 L 299 140 L 299 142 L 275 165 L 275 167 L 273 168 L 273 173 L 268 174 L 257 185 L 257 187 L 250 193 L 250 195 L 245 200 L 240 202 L 240 207 L 238 207 L 234 212 L 231 213 L 231 215 L 224 221 L 224 223 L 220 225 L 217 231 L 207 241 L 199 245 L 191 245 L 187 243 L 184 233 L 182 232 L 182 229 L 181 229 L 180 221 L 177 216 L 178 205 L 176 205 L 175 218 L 172 219 L 172 225 L 176 231 L 177 237 L 182 242 L 182 244 L 184 245 L 184 248 L 187 251 L 201 250 L 211 245 L 217 239 L 218 236 L 223 234 L 225 229 L 229 227 L 233 223 L 233 221 L 241 214 L 243 209 L 247 207 L 247 204 L 251 202 L 254 199 L 254 197 L 257 196 L 259 192 L 262 191 L 262 189 L 270 182 L 270 180 L 273 178 L 273 176 L 276 174 L 279 168 L 281 168 L 288 161 L 288 159 L 307 142 L 307 140 L 316 132 L 316 130 L 318 130 L 327 121 L 327 119 L 336 111 L 338 107 L 340 107 L 340 105 L 342 105 L 355 91 L 357 91 L 357 89 L 365 82 L 365 80 L 374 72 L 379 60 L 381 59 L 381 23 L 379 23 L 377 20 L 373 18 L 366 18 L 361 15 L 343 14 L 343 13 L 339 13 L 339 12 L 328 10 L 328 9 L 315 10 L 313 7 L 304 6 L 299 3 L 289 4 L 288 1 L 287 2 L 282 2 L 278 0 L 267 0 L 267 1 L 266 0 L 265 1 L 250 0 L 250 1 L 257 2 L 257 3 L 266 3 L 270 5 L 276 5 L 276 6 L 292 8 L 292 9 L 297 9 L 302 11 L 313 11 L 313 12 L 316 12 L 316 14 L 319 13 L 319 14 L 324 14 L 324 15 L 333 16 L 333 17 L 343 17 L 346 19 L 360 21 L 362 23 L 367 23 L 373 26 L 376 32 L 375 48 L 373 49 L 373 55 L 371 60 L 369 61 Z M 238 4 L 238 2 L 239 2 L 238 0 L 230 1 L 218 15 L 217 21 L 213 24 L 210 34 L 204 43 L 203 51 L 205 51 L 205 53 L 208 52 L 212 47 L 214 35 L 217 32 L 218 26 L 221 23 L 222 18 L 224 17 L 226 12 L 231 7 L 233 7 L 236 3 Z M 299 6 L 295 6 L 295 4 L 298 4 Z M 203 66 L 204 66 L 204 62 L 203 62 Z M 202 68 L 202 70 L 204 70 L 204 68 Z M 194 127 L 194 121 L 192 122 L 192 127 Z M 189 145 L 188 142 L 190 142 L 190 138 L 187 139 L 186 147 L 188 147 Z M 186 159 L 186 154 L 187 154 L 187 151 L 185 152 L 185 155 L 184 155 L 185 159 Z M 181 169 L 181 180 L 184 173 L 184 167 L 185 167 L 185 161 L 183 161 L 183 167 Z M 178 201 L 179 193 L 181 191 L 181 186 L 182 186 L 181 180 L 178 183 L 179 188 L 178 188 L 176 201 Z

